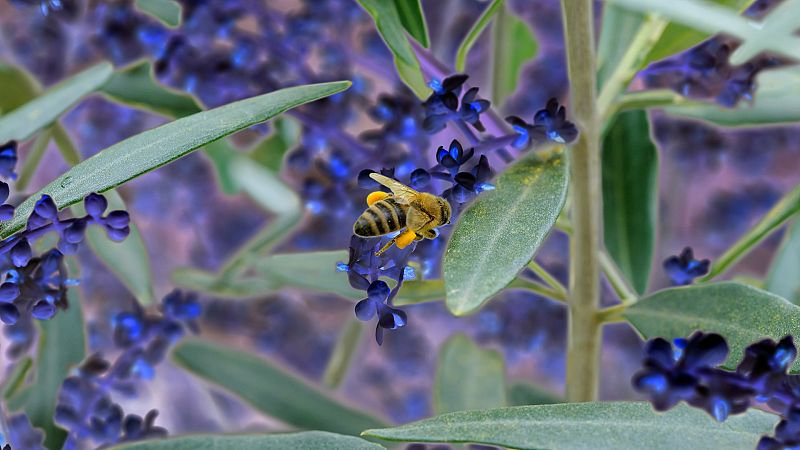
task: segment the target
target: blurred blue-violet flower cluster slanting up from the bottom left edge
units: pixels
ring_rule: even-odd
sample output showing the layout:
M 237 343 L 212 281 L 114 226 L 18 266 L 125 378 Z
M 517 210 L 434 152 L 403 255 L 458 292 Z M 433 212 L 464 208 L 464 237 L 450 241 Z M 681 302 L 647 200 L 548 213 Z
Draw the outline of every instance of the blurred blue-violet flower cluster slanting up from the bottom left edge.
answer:
M 185 329 L 196 330 L 200 303 L 191 295 L 173 291 L 162 300 L 160 314 L 136 306 L 133 312 L 114 317 L 114 343 L 122 351 L 116 360 L 110 363 L 92 355 L 61 386 L 55 420 L 69 431 L 65 449 L 78 448 L 87 439 L 110 445 L 166 435 L 165 429 L 155 425 L 157 411 L 151 410 L 144 418 L 126 415 L 112 400 L 112 393 L 132 395 L 137 380 L 154 376 L 154 366 Z

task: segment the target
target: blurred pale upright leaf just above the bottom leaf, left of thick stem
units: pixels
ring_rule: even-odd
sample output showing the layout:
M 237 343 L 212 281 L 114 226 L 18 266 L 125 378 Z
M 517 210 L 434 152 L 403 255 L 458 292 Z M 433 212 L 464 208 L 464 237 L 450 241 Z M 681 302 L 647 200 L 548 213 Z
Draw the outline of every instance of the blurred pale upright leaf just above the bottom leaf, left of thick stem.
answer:
M 439 351 L 433 382 L 436 414 L 506 405 L 505 361 L 497 350 L 484 350 L 455 335 Z

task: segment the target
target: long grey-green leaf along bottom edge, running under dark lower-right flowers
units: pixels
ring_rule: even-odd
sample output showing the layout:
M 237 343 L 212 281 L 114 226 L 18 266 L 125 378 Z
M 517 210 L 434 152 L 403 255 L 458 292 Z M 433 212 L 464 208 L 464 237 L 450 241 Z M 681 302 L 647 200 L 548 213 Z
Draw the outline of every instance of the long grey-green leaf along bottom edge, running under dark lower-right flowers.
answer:
M 657 413 L 649 403 L 589 402 L 454 412 L 364 435 L 525 450 L 752 450 L 761 435 L 772 434 L 777 420 L 755 409 L 717 423 L 683 404 Z

